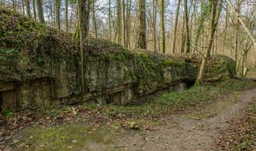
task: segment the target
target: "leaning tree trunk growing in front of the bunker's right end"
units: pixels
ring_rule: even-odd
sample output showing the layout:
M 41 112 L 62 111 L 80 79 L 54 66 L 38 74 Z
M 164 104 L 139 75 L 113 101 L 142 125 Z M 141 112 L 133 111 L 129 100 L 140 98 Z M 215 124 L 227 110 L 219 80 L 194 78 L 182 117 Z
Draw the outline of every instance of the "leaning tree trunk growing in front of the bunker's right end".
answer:
M 211 2 L 212 2 L 212 9 L 211 9 L 210 31 L 209 31 L 209 37 L 208 37 L 208 42 L 207 42 L 207 49 L 206 49 L 205 56 L 202 58 L 202 63 L 201 63 L 195 84 L 202 84 L 202 82 L 203 82 L 203 75 L 204 75 L 204 72 L 206 69 L 207 61 L 210 57 L 210 50 L 211 50 L 211 46 L 213 43 L 213 35 L 214 35 L 214 32 L 216 31 L 217 23 L 218 23 L 220 13 L 221 13 L 222 0 L 221 0 L 221 2 L 219 2 L 218 12 L 217 12 L 218 0 L 212 0 Z M 216 12 L 217 12 L 217 17 L 215 18 Z

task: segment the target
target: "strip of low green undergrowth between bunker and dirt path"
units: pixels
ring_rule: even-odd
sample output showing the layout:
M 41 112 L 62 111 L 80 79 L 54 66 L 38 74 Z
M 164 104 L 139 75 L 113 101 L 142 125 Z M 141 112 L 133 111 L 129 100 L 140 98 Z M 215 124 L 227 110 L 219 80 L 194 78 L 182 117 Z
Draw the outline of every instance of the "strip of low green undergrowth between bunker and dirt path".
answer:
M 234 90 L 250 90 L 256 87 L 256 82 L 251 79 L 228 79 L 218 83 L 208 83 L 192 87 L 189 90 L 163 94 L 160 98 L 142 105 L 92 107 L 95 112 L 102 112 L 112 117 L 132 117 L 136 119 L 154 119 L 165 114 L 189 112 L 192 109 L 204 108 L 216 101 L 223 94 Z

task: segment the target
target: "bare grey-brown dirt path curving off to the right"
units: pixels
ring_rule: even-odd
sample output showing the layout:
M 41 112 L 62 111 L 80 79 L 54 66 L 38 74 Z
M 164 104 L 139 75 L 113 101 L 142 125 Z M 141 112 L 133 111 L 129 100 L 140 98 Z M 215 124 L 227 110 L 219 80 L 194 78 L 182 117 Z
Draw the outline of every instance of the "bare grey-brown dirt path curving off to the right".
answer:
M 202 111 L 193 114 L 170 116 L 158 131 L 150 131 L 122 138 L 128 150 L 220 150 L 214 145 L 218 134 L 224 133 L 227 120 L 239 117 L 254 90 L 230 94 L 224 101 L 217 101 Z

